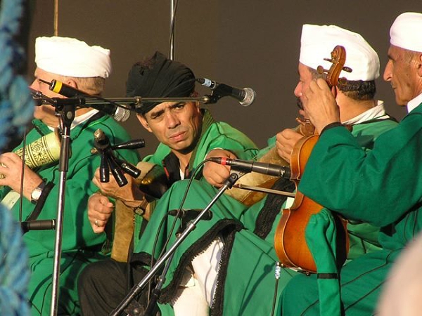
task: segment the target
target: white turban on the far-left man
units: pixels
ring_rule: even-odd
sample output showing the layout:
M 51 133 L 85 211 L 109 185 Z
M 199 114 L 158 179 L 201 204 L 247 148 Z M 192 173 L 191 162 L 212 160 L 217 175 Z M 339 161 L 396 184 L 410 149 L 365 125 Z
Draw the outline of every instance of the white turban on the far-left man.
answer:
M 38 37 L 35 63 L 46 72 L 66 77 L 108 78 L 111 73 L 108 49 L 70 37 Z

